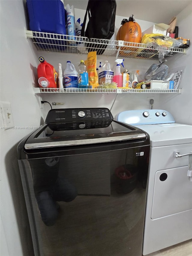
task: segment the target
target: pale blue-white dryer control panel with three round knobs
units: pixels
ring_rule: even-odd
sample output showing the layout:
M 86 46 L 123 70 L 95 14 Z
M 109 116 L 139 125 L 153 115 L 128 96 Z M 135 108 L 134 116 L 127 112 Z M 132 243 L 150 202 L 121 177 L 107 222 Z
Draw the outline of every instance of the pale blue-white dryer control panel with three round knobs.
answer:
M 115 116 L 115 120 L 130 125 L 154 125 L 174 123 L 175 119 L 166 110 L 127 110 Z

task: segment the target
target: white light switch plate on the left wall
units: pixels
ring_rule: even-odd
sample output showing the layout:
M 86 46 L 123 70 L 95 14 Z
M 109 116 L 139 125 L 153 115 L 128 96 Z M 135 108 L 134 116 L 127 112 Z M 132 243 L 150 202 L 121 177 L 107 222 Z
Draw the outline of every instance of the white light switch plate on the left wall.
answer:
M 1 109 L 1 116 L 3 120 L 3 129 L 7 130 L 9 127 L 13 127 L 13 116 L 11 111 L 11 105 L 10 102 L 0 102 L 0 109 Z

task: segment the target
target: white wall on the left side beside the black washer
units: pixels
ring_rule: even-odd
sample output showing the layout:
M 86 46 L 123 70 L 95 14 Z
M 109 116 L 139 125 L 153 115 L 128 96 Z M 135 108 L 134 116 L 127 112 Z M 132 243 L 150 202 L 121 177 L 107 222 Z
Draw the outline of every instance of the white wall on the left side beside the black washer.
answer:
M 25 38 L 22 1 L 1 5 L 1 101 L 11 104 L 15 126 L 39 126 L 41 111 L 33 95 L 33 71 L 37 67 Z M 1 119 L 1 127 L 3 127 Z M 33 255 L 29 221 L 17 165 L 16 146 L 32 130 L 1 132 L 1 256 Z

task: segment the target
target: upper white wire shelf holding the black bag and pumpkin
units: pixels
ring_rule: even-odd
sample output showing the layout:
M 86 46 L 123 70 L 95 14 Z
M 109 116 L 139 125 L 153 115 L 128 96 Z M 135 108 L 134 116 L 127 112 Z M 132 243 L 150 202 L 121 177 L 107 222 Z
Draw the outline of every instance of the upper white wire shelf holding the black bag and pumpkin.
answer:
M 88 51 L 97 51 L 97 55 L 118 56 L 121 58 L 158 60 L 158 50 L 149 48 L 147 44 L 131 43 L 125 41 L 88 39 L 86 37 L 35 32 L 26 30 L 27 38 L 32 38 L 38 51 L 55 53 L 79 53 L 87 54 Z M 85 43 L 82 51 L 82 45 Z M 182 48 L 169 48 L 164 58 L 176 53 L 185 53 Z

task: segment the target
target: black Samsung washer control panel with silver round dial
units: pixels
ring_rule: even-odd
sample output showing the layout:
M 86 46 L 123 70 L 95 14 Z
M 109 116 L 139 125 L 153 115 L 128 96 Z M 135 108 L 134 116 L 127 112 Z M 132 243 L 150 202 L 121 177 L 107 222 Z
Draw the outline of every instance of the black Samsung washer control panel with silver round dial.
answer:
M 52 109 L 49 110 L 45 122 L 84 122 L 91 120 L 113 120 L 113 116 L 108 108 Z

